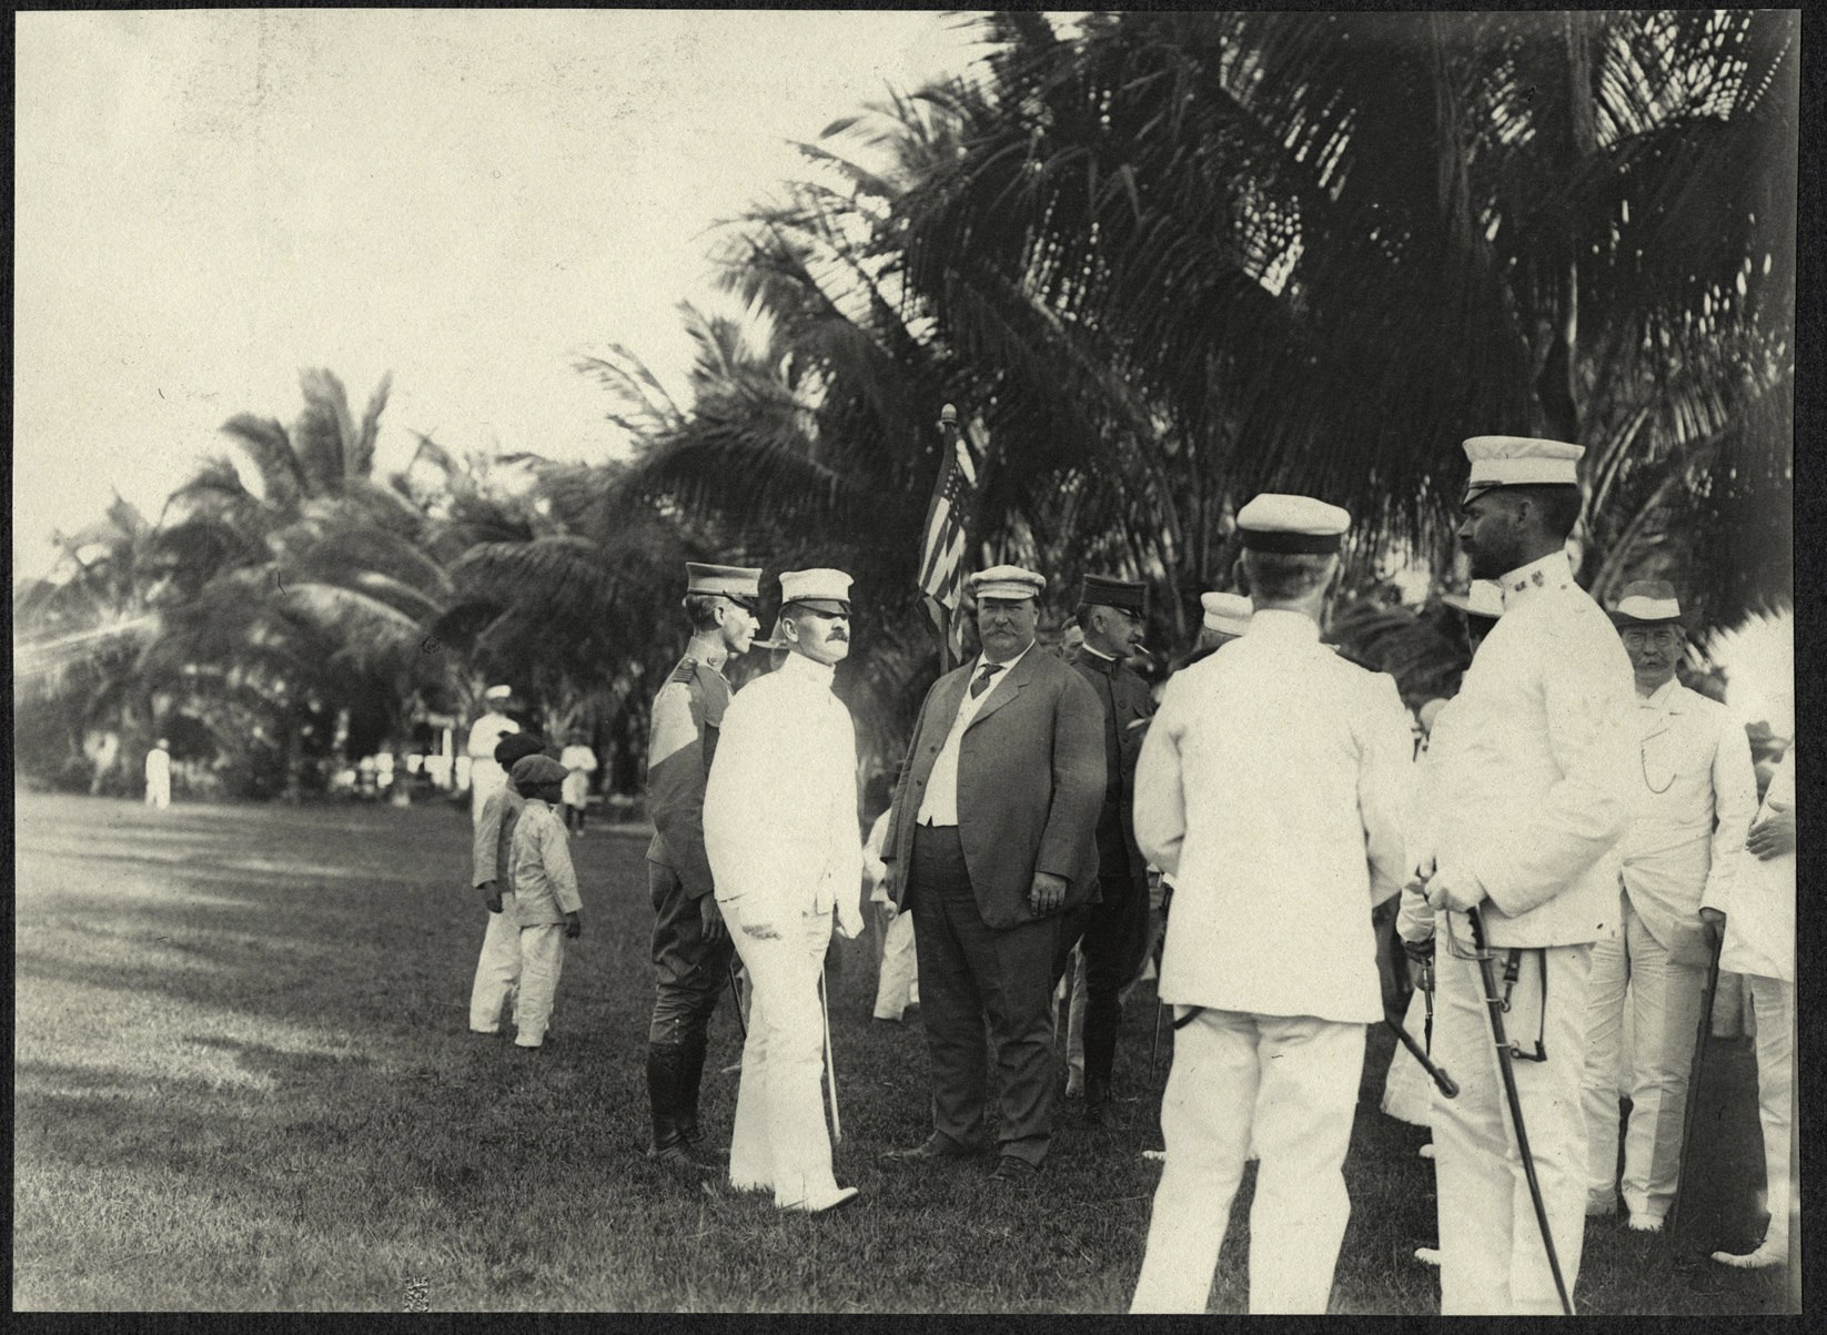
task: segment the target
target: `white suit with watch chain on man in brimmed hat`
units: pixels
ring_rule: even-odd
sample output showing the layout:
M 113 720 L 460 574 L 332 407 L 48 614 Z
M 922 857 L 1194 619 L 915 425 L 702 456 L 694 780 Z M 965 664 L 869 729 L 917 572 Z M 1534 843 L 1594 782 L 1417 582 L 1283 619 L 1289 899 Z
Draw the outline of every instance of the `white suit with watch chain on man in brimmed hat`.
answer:
M 1701 900 L 1730 893 L 1758 807 L 1750 741 L 1725 705 L 1664 681 L 1637 699 L 1637 816 L 1624 835 L 1624 930 L 1593 946 L 1586 1019 L 1589 1209 L 1617 1207 L 1619 1056 L 1632 1008 L 1624 1205 L 1661 1220 L 1675 1198 L 1688 1067 L 1706 990 Z

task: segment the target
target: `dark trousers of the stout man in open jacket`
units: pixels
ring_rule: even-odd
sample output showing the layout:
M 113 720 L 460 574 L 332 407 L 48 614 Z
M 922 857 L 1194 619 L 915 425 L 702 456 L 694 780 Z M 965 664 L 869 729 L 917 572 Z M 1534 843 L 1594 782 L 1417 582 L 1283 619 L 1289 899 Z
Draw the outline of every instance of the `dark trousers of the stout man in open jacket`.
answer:
M 915 827 L 903 908 L 919 915 L 914 941 L 934 1130 L 959 1145 L 985 1143 L 994 1046 L 998 1149 L 1038 1167 L 1052 1141 L 1052 961 L 1065 919 L 985 924 L 956 825 Z

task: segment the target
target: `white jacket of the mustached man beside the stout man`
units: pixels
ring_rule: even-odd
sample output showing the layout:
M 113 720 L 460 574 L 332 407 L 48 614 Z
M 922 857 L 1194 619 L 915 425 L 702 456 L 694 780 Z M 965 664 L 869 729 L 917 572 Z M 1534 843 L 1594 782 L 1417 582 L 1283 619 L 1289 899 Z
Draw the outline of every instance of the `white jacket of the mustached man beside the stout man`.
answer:
M 789 654 L 729 703 L 703 791 L 716 902 L 745 922 L 835 908 L 862 926 L 857 731 L 831 668 Z

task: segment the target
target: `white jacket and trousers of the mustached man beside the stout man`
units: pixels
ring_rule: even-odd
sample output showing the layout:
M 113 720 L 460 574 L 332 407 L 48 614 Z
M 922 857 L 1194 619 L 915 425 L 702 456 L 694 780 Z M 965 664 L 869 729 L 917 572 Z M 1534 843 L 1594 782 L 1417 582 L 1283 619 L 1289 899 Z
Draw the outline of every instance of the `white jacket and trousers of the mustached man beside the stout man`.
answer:
M 755 988 L 729 1182 L 798 1207 L 837 1191 L 818 1006 L 833 909 L 848 933 L 862 928 L 857 732 L 828 665 L 789 654 L 731 701 L 703 791 L 703 846 Z M 780 937 L 751 937 L 747 922 Z

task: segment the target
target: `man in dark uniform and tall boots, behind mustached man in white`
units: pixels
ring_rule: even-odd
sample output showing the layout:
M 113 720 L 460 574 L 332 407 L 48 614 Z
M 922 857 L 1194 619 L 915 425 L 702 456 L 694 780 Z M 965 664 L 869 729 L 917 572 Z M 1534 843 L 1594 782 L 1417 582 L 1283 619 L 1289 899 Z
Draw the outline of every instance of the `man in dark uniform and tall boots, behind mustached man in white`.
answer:
M 762 572 L 685 562 L 691 645 L 654 698 L 647 745 L 647 886 L 654 902 L 654 1014 L 647 1025 L 649 1156 L 700 1167 L 692 1147 L 711 1012 L 729 975 L 729 931 L 716 908 L 703 849 L 703 787 L 716 758 L 731 690 L 723 665 L 747 652 L 760 623 Z

